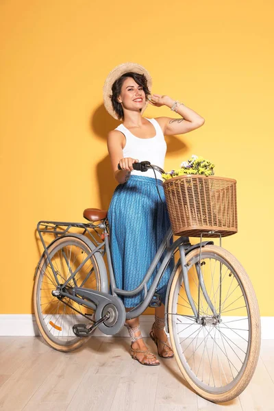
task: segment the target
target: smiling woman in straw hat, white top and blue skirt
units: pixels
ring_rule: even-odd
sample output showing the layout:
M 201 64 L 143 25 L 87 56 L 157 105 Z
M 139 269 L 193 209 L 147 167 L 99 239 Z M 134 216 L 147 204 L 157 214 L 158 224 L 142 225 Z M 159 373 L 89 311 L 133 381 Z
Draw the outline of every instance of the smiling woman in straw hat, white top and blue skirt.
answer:
M 204 123 L 203 117 L 183 103 L 167 95 L 151 95 L 150 88 L 151 76 L 144 67 L 135 63 L 116 66 L 103 87 L 106 110 L 114 119 L 123 121 L 108 134 L 108 152 L 114 177 L 119 182 L 108 210 L 108 221 L 116 286 L 124 290 L 133 290 L 140 284 L 170 227 L 166 203 L 160 201 L 153 171 L 135 171 L 132 164 L 148 160 L 164 169 L 164 136 L 184 134 Z M 181 118 L 147 119 L 142 113 L 149 103 L 155 107 L 166 105 Z M 158 171 L 156 177 L 160 195 L 164 199 L 162 176 Z M 162 259 L 149 280 L 148 288 L 161 262 Z M 166 286 L 173 266 L 171 260 L 158 284 L 156 292 L 162 297 L 162 305 L 155 308 L 155 322 L 149 334 L 162 358 L 174 356 L 164 332 Z M 143 291 L 134 297 L 121 298 L 126 310 L 129 310 L 142 301 Z M 149 352 L 142 340 L 139 319 L 128 320 L 125 326 L 132 339 L 132 358 L 144 365 L 159 365 L 158 359 Z

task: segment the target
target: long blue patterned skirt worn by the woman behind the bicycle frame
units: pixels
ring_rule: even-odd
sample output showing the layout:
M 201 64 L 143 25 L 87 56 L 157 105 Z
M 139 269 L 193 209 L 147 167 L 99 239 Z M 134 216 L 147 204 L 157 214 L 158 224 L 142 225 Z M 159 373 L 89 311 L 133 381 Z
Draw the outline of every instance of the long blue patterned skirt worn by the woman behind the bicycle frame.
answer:
M 114 190 L 108 222 L 110 225 L 110 251 L 116 286 L 123 290 L 134 290 L 145 277 L 155 253 L 171 227 L 166 208 L 164 188 L 160 179 L 158 190 L 152 177 L 131 175 L 125 184 Z M 170 243 L 173 242 L 171 238 Z M 158 263 L 147 283 L 151 286 L 166 253 Z M 174 267 L 174 258 L 164 271 L 156 292 L 166 302 L 166 288 Z M 132 297 L 120 296 L 125 307 L 136 307 L 144 299 L 144 291 Z

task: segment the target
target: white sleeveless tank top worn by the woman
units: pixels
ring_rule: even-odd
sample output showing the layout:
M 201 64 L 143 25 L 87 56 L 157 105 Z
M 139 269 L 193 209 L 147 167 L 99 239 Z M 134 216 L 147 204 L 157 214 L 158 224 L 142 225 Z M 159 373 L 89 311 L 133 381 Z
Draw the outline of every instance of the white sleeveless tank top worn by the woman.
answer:
M 145 117 L 147 119 L 147 117 Z M 116 127 L 116 130 L 122 132 L 125 136 L 126 142 L 123 148 L 123 158 L 132 157 L 137 158 L 139 162 L 149 161 L 155 166 L 164 169 L 164 157 L 166 155 L 166 141 L 164 140 L 164 134 L 160 124 L 155 119 L 147 119 L 150 121 L 155 128 L 155 136 L 151 138 L 140 138 L 134 136 L 132 132 L 129 132 L 123 124 Z M 156 177 L 163 180 L 162 175 L 159 171 L 155 171 Z M 155 178 L 153 170 L 149 169 L 142 173 L 142 171 L 132 171 L 132 175 L 144 175 L 146 177 Z

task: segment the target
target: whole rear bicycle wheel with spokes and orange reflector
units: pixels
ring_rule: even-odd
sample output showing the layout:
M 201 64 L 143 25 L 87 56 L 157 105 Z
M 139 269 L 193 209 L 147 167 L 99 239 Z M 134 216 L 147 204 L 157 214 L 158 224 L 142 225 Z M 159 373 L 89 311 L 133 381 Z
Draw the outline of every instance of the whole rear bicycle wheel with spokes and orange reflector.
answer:
M 64 284 L 77 267 L 91 253 L 84 240 L 64 236 L 49 246 L 49 256 L 60 284 Z M 95 313 L 85 305 L 75 303 L 68 297 L 55 297 L 52 291 L 58 283 L 47 256 L 42 260 L 34 284 L 34 312 L 40 333 L 47 343 L 59 351 L 73 351 L 83 345 L 88 337 L 77 337 L 73 325 L 90 323 Z M 95 255 L 89 258 L 66 288 L 84 287 L 101 290 L 99 267 Z M 84 301 L 83 301 L 84 303 Z

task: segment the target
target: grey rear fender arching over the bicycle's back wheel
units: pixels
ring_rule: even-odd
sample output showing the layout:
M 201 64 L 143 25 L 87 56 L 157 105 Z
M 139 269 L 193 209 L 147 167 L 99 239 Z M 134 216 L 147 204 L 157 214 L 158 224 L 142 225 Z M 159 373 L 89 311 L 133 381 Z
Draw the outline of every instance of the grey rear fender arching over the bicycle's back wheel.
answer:
M 93 251 L 96 247 L 93 244 L 93 242 L 87 238 L 86 236 L 84 236 L 83 234 L 77 234 L 77 233 L 71 233 L 71 234 L 66 234 L 65 236 L 59 236 L 58 238 L 55 238 L 53 241 L 51 241 L 51 243 L 47 246 L 47 249 L 49 249 L 49 247 L 51 247 L 51 245 L 54 244 L 54 242 L 56 242 L 59 238 L 64 238 L 64 237 L 76 237 L 79 238 L 80 240 L 84 241 L 86 243 L 86 245 L 88 247 L 90 247 L 90 249 Z M 100 275 L 100 281 L 101 281 L 101 291 L 103 292 L 107 292 L 109 291 L 109 285 L 108 285 L 108 273 L 107 270 L 105 268 L 105 262 L 103 260 L 103 257 L 101 256 L 100 251 L 97 251 L 96 253 L 93 254 L 97 264 L 98 264 L 98 269 L 99 269 L 99 275 Z M 36 266 L 36 271 L 35 271 L 35 275 L 34 277 L 36 277 L 37 273 L 38 273 L 38 269 L 40 267 L 40 264 L 42 263 L 43 259 L 47 258 L 47 254 L 44 251 L 42 253 L 42 256 Z

